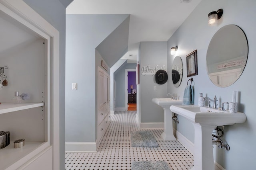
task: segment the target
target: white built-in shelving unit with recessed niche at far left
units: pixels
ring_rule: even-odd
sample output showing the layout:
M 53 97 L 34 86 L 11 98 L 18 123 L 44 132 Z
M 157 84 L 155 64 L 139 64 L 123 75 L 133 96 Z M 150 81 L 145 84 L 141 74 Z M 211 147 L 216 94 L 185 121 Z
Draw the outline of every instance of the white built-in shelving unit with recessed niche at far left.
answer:
M 10 131 L 10 145 L 0 149 L 0 170 L 44 164 L 57 170 L 58 31 L 23 1 L 0 0 L 0 25 L 0 67 L 8 66 L 0 75 L 1 81 L 8 80 L 8 86 L 0 89 L 0 131 Z M 13 104 L 15 91 L 30 98 Z M 25 139 L 25 145 L 14 149 L 13 141 L 18 139 Z

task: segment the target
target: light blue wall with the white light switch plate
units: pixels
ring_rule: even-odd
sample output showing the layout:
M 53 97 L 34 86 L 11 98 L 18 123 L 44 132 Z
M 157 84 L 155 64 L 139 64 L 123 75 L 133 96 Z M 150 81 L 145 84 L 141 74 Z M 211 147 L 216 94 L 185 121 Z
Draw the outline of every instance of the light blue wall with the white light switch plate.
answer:
M 127 16 L 66 15 L 66 142 L 96 141 L 95 49 Z

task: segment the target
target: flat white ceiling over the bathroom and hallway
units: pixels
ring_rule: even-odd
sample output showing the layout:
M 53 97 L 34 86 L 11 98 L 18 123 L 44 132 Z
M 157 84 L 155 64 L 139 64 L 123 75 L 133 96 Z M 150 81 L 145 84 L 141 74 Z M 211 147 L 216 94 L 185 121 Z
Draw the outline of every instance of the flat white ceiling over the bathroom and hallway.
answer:
M 184 1 L 184 2 L 182 2 Z M 168 41 L 201 0 L 74 0 L 66 14 L 130 14 L 128 52 L 136 63 L 142 41 Z

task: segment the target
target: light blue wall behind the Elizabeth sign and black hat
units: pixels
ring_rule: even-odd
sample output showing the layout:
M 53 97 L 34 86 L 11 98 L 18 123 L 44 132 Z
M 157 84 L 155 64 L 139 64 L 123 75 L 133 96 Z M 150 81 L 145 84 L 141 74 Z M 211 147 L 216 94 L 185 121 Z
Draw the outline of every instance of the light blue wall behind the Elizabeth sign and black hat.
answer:
M 154 104 L 152 98 L 167 98 L 167 82 L 157 84 L 155 75 L 142 75 L 142 67 L 150 65 L 150 68 L 167 68 L 167 42 L 141 42 L 140 43 L 140 118 L 141 123 L 164 122 L 162 107 Z M 168 74 L 170 79 L 171 74 Z M 156 91 L 153 91 L 156 86 Z M 138 88 L 138 87 L 137 87 Z

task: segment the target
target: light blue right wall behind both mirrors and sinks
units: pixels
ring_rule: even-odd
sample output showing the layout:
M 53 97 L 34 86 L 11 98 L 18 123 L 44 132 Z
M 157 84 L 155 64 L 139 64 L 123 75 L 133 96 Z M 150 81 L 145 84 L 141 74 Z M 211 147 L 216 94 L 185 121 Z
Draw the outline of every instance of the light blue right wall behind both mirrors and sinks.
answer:
M 209 27 L 207 25 L 208 13 L 220 8 L 224 10 L 223 16 L 219 20 L 220 23 L 217 26 Z M 198 75 L 193 76 L 195 82 L 195 105 L 198 105 L 198 97 L 201 92 L 204 95 L 207 94 L 210 98 L 216 95 L 219 98 L 218 102 L 220 102 L 220 98 L 222 102 L 230 102 L 233 90 L 238 90 L 240 93 L 238 96 L 238 110 L 246 114 L 247 121 L 225 127 L 222 139 L 230 145 L 229 151 L 214 148 L 216 162 L 226 170 L 254 169 L 256 158 L 254 153 L 254 150 L 256 150 L 256 114 L 254 107 L 254 98 L 256 96 L 254 88 L 256 84 L 254 76 L 256 72 L 256 20 L 252 19 L 256 16 L 255 9 L 255 0 L 202 0 L 168 41 L 168 49 L 178 45 L 177 55 L 182 58 L 184 66 L 181 86 L 175 88 L 172 82 L 168 82 L 168 91 L 176 91 L 180 96 L 183 96 L 188 80 L 186 76 L 186 55 L 197 49 Z M 238 25 L 246 34 L 249 46 L 248 61 L 244 72 L 234 84 L 226 88 L 219 88 L 208 78 L 206 53 L 214 33 L 228 24 Z M 174 57 L 168 53 L 168 67 L 171 66 Z M 220 103 L 218 103 L 218 106 L 220 106 Z M 194 128 L 191 123 L 182 117 L 178 117 L 178 119 L 180 122 L 177 126 L 178 131 L 194 142 Z

